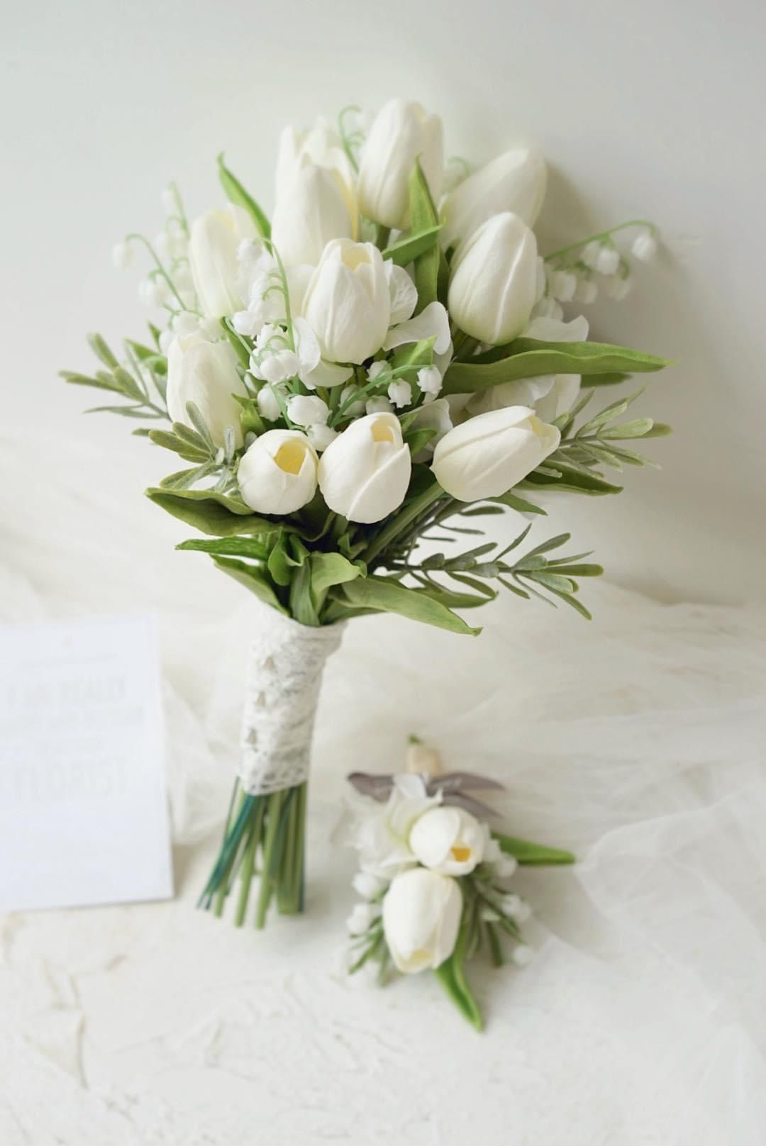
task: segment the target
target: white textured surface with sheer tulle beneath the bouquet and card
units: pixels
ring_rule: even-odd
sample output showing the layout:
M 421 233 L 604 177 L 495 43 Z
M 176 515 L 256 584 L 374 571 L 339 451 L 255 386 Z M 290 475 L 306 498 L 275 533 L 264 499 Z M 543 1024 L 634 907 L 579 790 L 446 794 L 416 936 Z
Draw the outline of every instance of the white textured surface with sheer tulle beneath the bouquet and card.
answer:
M 595 582 L 592 625 L 516 598 L 477 639 L 354 621 L 320 698 L 310 915 L 237 932 L 193 904 L 258 606 L 173 551 L 188 531 L 141 501 L 144 453 L 117 481 L 52 439 L 30 476 L 19 441 L 0 441 L 0 619 L 158 611 L 179 898 L 2 921 L 3 1144 L 766 1140 L 763 611 Z M 507 784 L 514 834 L 581 857 L 519 877 L 538 957 L 475 968 L 483 1036 L 429 978 L 341 970 L 343 776 L 390 771 L 413 731 Z

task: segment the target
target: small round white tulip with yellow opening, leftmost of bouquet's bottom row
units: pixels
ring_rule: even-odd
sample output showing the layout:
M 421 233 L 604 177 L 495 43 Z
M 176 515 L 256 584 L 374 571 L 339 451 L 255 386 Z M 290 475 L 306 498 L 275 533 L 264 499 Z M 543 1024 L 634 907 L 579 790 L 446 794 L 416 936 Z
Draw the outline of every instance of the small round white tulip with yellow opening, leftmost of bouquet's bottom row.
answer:
M 316 492 L 318 461 L 305 434 L 267 430 L 240 462 L 237 480 L 243 501 L 257 513 L 294 513 Z

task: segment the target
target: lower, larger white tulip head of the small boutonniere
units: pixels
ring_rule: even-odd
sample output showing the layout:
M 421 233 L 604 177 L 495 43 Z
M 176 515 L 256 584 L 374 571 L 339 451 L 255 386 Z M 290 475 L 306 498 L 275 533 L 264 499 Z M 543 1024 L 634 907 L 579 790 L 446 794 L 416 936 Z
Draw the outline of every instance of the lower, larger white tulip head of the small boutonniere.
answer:
M 383 932 L 405 974 L 439 967 L 452 955 L 463 896 L 456 880 L 425 868 L 394 876 L 383 900 Z

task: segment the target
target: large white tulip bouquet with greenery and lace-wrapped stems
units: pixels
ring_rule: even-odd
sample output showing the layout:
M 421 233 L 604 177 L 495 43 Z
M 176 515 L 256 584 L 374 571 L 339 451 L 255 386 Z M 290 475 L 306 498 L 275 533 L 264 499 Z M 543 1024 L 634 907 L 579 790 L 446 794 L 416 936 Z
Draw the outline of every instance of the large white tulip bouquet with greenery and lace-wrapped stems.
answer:
M 131 234 L 115 250 L 119 266 L 138 244 L 151 260 L 149 343 L 118 355 L 93 336 L 101 369 L 63 376 L 122 399 L 97 409 L 147 422 L 134 432 L 186 463 L 148 496 L 204 535 L 180 549 L 268 606 L 203 894 L 221 913 L 239 879 L 242 924 L 259 874 L 263 926 L 272 900 L 303 906 L 311 735 L 343 622 L 392 612 L 477 634 L 461 611 L 503 588 L 589 617 L 578 579 L 601 568 L 550 556 L 568 534 L 523 550 L 526 524 L 502 548 L 459 542 L 483 515 L 544 515 L 552 492 L 617 493 L 603 466 L 644 463 L 623 440 L 667 427 L 619 423 L 635 395 L 580 415 L 595 387 L 666 363 L 563 321 L 561 303 L 592 300 L 599 282 L 622 297 L 618 240 L 634 228 L 647 258 L 655 229 L 625 223 L 540 257 L 534 151 L 445 171 L 438 117 L 392 100 L 366 135 L 349 112 L 337 129 L 284 131 L 271 222 L 222 158 L 219 174 L 227 206 L 189 225 L 171 186 L 156 244 Z M 437 536 L 448 549 L 424 552 Z

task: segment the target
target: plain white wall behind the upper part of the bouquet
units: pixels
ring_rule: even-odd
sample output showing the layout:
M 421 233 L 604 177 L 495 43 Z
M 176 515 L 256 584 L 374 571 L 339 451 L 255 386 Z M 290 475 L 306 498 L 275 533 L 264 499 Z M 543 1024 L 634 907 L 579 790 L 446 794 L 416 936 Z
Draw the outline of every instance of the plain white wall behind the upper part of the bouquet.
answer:
M 662 227 L 630 301 L 591 316 L 596 337 L 678 360 L 641 400 L 675 426 L 651 446 L 664 469 L 618 499 L 558 501 L 554 525 L 663 598 L 763 597 L 765 45 L 760 0 L 3 0 L 1 430 L 101 435 L 105 495 L 138 499 L 165 457 L 128 423 L 83 418 L 95 392 L 55 376 L 88 366 L 86 330 L 142 331 L 112 242 L 159 229 L 171 178 L 192 212 L 214 202 L 221 149 L 271 206 L 284 121 L 406 94 L 441 112 L 448 154 L 540 143 L 544 249 L 634 215 Z M 34 432 L 28 457 L 55 479 Z

